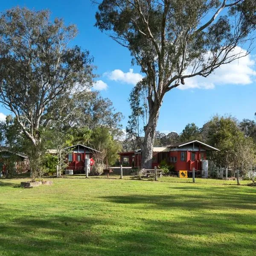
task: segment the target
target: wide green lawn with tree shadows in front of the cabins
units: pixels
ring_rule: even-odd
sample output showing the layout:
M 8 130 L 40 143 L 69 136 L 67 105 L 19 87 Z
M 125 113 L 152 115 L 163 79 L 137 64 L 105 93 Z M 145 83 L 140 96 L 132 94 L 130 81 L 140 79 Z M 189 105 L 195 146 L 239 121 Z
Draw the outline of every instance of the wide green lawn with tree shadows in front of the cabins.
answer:
M 1 256 L 256 255 L 256 187 L 76 176 L 22 189 L 22 180 L 0 179 Z

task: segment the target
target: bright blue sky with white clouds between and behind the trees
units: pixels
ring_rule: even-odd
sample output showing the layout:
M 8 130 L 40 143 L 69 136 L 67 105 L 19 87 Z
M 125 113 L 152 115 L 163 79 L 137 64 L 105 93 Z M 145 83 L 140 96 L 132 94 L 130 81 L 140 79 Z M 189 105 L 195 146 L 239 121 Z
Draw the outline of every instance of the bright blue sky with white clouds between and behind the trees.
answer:
M 30 9 L 49 9 L 52 18 L 63 17 L 67 24 L 74 23 L 79 35 L 73 44 L 88 49 L 94 56 L 96 86 L 101 88 L 103 97 L 113 102 L 116 110 L 125 115 L 125 128 L 130 114 L 128 96 L 134 83 L 140 79 L 140 68 L 131 66 L 127 49 L 100 32 L 95 23 L 97 6 L 90 0 L 11 0 L 3 1 L 0 11 L 13 6 Z M 157 129 L 161 132 L 180 133 L 187 123 L 195 122 L 201 127 L 212 115 L 232 114 L 238 119 L 254 119 L 256 112 L 256 51 L 239 62 L 227 64 L 207 79 L 186 81 L 185 88 L 176 88 L 166 94 L 160 111 Z M 131 70 L 133 69 L 133 70 Z M 0 112 L 8 111 L 0 106 Z M 3 114 L 0 113 L 3 117 Z

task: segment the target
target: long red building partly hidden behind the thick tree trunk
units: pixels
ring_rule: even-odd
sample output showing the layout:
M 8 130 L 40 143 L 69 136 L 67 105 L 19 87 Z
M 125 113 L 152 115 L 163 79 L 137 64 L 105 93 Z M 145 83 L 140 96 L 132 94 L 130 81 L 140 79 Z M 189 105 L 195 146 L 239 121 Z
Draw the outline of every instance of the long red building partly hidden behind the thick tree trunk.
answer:
M 198 140 L 191 140 L 183 143 L 175 143 L 163 147 L 153 148 L 152 169 L 159 166 L 162 160 L 169 165 L 174 166 L 176 172 L 187 170 L 188 172 L 202 170 L 202 160 L 207 160 L 207 152 L 219 151 L 210 145 L 202 143 Z M 141 167 L 141 150 L 130 152 L 122 152 L 120 155 L 120 163 L 125 166 Z

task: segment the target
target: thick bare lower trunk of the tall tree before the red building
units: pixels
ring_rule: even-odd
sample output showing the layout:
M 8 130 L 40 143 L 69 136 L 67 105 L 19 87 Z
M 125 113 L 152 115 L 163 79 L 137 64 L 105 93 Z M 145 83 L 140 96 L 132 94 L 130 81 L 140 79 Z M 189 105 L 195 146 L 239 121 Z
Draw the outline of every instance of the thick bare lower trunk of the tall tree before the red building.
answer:
M 158 116 L 159 107 L 155 107 L 150 111 L 148 124 L 144 127 L 145 137 L 141 145 L 141 167 L 143 169 L 152 169 L 154 137 L 157 128 Z

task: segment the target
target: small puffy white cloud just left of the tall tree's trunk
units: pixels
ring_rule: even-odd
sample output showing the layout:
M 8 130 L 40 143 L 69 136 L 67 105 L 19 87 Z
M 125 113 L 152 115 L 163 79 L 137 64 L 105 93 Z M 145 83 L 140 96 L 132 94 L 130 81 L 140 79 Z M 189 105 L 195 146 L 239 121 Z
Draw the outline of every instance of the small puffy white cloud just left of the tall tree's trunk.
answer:
M 134 73 L 133 69 L 130 69 L 127 73 L 124 73 L 122 70 L 116 69 L 111 72 L 106 72 L 104 73 L 104 75 L 107 76 L 110 80 L 133 85 L 136 85 L 137 82 L 143 79 L 143 76 L 140 73 Z

